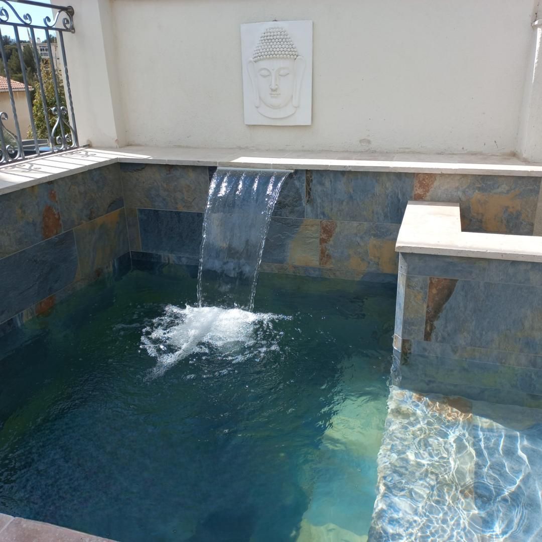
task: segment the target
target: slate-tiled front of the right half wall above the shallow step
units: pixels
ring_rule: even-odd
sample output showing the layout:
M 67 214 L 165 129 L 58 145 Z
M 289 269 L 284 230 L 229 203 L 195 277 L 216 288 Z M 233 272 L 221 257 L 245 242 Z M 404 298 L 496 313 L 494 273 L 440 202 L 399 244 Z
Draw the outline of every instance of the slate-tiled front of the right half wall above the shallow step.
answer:
M 542 405 L 542 263 L 401 254 L 401 386 Z

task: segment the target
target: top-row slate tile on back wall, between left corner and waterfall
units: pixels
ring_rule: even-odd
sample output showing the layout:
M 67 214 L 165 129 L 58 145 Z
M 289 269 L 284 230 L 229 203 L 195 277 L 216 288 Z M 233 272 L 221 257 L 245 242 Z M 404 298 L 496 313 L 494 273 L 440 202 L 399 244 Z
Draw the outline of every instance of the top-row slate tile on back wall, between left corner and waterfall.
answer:
M 121 164 L 121 173 L 126 207 L 205 211 L 207 167 L 148 164 L 127 169 Z

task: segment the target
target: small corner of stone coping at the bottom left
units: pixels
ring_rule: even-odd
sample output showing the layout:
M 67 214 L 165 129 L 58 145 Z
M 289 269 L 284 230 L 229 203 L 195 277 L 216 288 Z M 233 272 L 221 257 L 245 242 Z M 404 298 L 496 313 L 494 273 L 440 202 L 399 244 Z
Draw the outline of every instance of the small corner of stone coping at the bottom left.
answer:
M 41 521 L 0 514 L 0 542 L 114 542 Z

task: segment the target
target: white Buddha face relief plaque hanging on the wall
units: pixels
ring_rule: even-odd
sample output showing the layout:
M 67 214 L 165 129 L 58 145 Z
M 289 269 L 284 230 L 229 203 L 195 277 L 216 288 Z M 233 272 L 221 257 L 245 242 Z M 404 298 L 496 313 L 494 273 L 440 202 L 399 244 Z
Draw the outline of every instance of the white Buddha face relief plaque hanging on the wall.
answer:
M 312 21 L 241 25 L 245 124 L 311 124 Z

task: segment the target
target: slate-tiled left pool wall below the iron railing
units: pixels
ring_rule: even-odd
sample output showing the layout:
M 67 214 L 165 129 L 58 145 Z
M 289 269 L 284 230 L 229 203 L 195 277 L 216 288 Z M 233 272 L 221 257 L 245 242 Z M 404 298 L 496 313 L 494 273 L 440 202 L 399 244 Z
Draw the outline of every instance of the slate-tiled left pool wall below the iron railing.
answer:
M 119 164 L 0 196 L 0 335 L 130 269 Z

